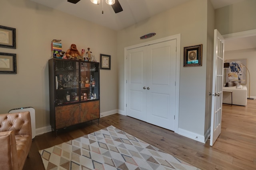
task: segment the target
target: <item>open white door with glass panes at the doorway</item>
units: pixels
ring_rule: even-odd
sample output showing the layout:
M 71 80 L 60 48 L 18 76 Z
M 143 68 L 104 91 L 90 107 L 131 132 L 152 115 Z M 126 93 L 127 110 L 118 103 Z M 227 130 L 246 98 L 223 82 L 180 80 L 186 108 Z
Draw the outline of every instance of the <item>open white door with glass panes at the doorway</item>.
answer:
M 214 30 L 214 55 L 212 72 L 212 116 L 210 146 L 214 144 L 221 132 L 222 87 L 224 63 L 224 38 L 217 29 Z

